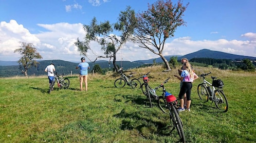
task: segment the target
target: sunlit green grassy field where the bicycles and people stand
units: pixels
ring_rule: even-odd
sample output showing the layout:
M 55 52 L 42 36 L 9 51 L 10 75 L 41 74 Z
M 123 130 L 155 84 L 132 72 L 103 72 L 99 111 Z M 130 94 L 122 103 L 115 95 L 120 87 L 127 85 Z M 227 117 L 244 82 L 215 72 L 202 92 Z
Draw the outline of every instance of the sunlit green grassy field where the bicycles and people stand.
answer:
M 256 142 L 256 73 L 194 67 L 196 73 L 211 71 L 224 81 L 229 102 L 227 113 L 214 103 L 202 103 L 193 83 L 191 111 L 180 113 L 187 142 Z M 149 84 L 166 78 L 168 92 L 176 97 L 179 81 L 174 69 L 147 67 L 132 69 L 139 77 L 151 71 Z M 88 91 L 79 91 L 77 76 L 68 77 L 69 89 L 48 91 L 44 77 L 0 79 L 1 142 L 178 142 L 170 134 L 170 119 L 157 107 L 145 106 L 141 90 L 115 88 L 118 77 L 89 75 Z M 210 80 L 210 77 L 208 78 Z

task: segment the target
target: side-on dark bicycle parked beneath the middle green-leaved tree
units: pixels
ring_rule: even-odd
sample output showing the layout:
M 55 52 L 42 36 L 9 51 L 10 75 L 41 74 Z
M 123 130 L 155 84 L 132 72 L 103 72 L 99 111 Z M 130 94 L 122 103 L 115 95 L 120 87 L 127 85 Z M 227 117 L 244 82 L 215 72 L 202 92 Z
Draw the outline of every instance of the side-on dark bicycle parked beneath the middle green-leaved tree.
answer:
M 116 79 L 114 82 L 114 85 L 116 88 L 120 88 L 120 87 L 124 87 L 125 84 L 131 86 L 133 89 L 135 89 L 136 87 L 140 88 L 141 83 L 138 79 L 132 79 L 131 77 L 133 76 L 132 74 L 134 73 L 130 73 L 130 75 L 127 77 L 123 74 L 123 67 L 119 68 L 118 73 L 121 74 L 120 78 Z

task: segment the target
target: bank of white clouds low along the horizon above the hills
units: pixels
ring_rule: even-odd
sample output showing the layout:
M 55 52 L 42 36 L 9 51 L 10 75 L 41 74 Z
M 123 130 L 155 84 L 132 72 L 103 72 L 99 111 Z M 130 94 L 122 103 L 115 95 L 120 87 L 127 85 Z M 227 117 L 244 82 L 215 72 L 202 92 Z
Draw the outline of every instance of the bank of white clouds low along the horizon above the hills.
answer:
M 20 55 L 13 51 L 21 45 L 19 41 L 33 43 L 43 57 L 43 60 L 65 60 L 80 61 L 81 55 L 74 45 L 77 38 L 83 40 L 85 32 L 81 23 L 55 23 L 52 25 L 38 24 L 38 26 L 47 30 L 38 34 L 31 34 L 22 25 L 15 20 L 10 22 L 2 21 L 0 23 L 0 60 L 19 60 Z M 253 39 L 256 33 L 245 33 L 242 36 Z M 230 54 L 256 57 L 255 40 L 191 40 L 191 37 L 179 37 L 170 39 L 164 46 L 164 56 L 186 55 L 202 49 L 221 51 Z M 96 42 L 91 42 L 90 46 L 97 55 L 102 55 L 101 47 Z M 87 53 L 91 60 L 95 56 L 91 51 Z M 145 60 L 159 58 L 149 50 L 142 49 L 138 44 L 127 42 L 117 53 L 117 60 Z M 100 59 L 108 60 L 108 59 Z M 169 60 L 169 59 L 168 59 Z

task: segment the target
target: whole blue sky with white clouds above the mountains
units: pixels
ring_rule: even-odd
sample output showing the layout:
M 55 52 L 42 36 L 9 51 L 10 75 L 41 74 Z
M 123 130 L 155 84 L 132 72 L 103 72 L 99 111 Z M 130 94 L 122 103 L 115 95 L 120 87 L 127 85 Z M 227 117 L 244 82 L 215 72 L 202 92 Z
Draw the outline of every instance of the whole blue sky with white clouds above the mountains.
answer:
M 117 21 L 120 11 L 131 6 L 135 12 L 148 9 L 145 0 L 0 0 L 0 60 L 17 61 L 13 51 L 19 41 L 33 43 L 43 60 L 80 61 L 74 42 L 83 39 L 83 25 L 93 17 L 98 21 Z M 174 4 L 177 0 L 172 1 Z M 256 57 L 256 1 L 197 0 L 189 3 L 184 20 L 168 39 L 164 55 L 186 55 L 202 49 Z M 92 44 L 93 47 L 99 47 Z M 100 47 L 98 48 L 100 49 Z M 95 53 L 101 55 L 100 50 Z M 144 54 L 141 54 L 144 53 Z M 90 60 L 95 56 L 88 52 Z M 158 58 L 150 51 L 128 42 L 118 53 L 117 60 Z M 107 60 L 107 59 L 102 59 Z

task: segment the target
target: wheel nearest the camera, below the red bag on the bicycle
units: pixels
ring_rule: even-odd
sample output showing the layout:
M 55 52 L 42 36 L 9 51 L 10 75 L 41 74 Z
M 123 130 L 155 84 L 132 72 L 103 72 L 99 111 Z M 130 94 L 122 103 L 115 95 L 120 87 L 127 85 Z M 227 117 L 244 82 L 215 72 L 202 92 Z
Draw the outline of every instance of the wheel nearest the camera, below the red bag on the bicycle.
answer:
M 182 127 L 182 121 L 181 121 L 181 118 L 179 117 L 179 114 L 174 106 L 171 106 L 171 109 L 170 109 L 170 120 L 172 121 L 174 127 L 176 128 L 176 130 L 179 134 L 180 140 L 182 142 L 186 142 L 184 130 Z

